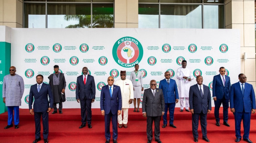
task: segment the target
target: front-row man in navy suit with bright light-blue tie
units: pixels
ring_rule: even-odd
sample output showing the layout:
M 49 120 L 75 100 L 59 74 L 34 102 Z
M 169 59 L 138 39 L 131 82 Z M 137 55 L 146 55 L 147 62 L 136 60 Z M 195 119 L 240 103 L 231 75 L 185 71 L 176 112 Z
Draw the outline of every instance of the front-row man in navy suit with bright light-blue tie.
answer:
M 119 86 L 113 85 L 114 78 L 108 77 L 108 85 L 103 86 L 100 93 L 100 110 L 105 118 L 106 143 L 110 141 L 110 119 L 112 118 L 113 142 L 117 143 L 117 116 L 122 110 L 122 94 Z

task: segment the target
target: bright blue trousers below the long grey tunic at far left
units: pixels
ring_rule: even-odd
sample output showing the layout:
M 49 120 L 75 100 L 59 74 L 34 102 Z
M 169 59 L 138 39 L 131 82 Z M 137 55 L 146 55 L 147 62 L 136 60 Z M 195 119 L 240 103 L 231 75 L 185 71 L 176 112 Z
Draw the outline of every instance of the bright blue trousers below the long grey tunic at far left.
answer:
M 20 112 L 19 106 L 7 106 L 8 110 L 8 125 L 12 124 L 13 110 L 14 110 L 14 125 L 18 125 L 20 123 Z

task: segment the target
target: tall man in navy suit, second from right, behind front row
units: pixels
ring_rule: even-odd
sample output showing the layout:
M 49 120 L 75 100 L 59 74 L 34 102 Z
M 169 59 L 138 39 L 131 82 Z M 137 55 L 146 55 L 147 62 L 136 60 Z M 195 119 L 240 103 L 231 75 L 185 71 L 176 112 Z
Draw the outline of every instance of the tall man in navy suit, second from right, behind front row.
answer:
M 220 105 L 223 105 L 223 124 L 230 127 L 228 124 L 228 102 L 230 92 L 230 78 L 226 76 L 226 70 L 224 67 L 220 67 L 220 74 L 213 77 L 212 81 L 212 97 L 214 100 L 214 116 L 216 119 L 216 125 L 220 126 L 219 110 Z

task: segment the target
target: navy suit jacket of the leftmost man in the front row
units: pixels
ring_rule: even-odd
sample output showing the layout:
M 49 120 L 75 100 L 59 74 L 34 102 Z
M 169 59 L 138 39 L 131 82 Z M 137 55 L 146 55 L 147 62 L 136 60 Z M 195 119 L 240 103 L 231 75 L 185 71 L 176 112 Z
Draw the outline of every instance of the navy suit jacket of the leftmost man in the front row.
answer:
M 48 108 L 53 106 L 53 96 L 50 85 L 43 83 L 40 91 L 37 91 L 37 84 L 34 84 L 30 88 L 28 97 L 28 107 L 32 109 L 33 97 L 34 97 L 34 112 L 46 112 Z M 49 96 L 49 101 L 48 101 Z M 50 106 L 49 106 L 50 103 Z

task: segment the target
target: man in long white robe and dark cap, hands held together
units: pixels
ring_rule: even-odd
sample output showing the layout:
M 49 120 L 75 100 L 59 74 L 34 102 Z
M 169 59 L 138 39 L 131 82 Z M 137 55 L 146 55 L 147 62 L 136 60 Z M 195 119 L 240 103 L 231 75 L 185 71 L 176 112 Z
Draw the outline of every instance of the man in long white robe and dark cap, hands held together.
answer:
M 189 108 L 189 100 L 188 100 L 188 94 L 189 94 L 189 88 L 190 88 L 190 82 L 194 79 L 192 72 L 190 69 L 186 68 L 187 61 L 183 60 L 181 63 L 182 67 L 177 69 L 176 77 L 179 80 L 178 81 L 178 93 L 180 98 L 180 112 L 183 112 L 184 109 L 184 98 L 186 101 L 186 111 L 190 112 L 188 110 Z

